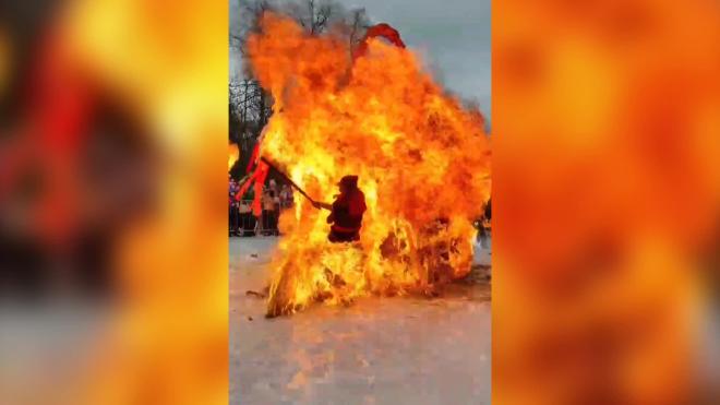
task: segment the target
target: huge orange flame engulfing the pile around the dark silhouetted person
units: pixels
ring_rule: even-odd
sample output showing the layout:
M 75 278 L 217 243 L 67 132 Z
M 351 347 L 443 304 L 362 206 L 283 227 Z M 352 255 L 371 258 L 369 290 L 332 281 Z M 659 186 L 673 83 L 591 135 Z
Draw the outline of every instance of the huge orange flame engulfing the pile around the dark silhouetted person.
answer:
M 326 202 L 343 176 L 358 175 L 368 200 L 361 242 L 333 245 L 326 213 L 297 196 L 280 218 L 287 237 L 268 315 L 313 300 L 430 293 L 467 275 L 472 219 L 490 195 L 482 116 L 446 95 L 406 49 L 370 39 L 352 63 L 340 38 L 273 14 L 262 28 L 249 49 L 275 99 L 263 156 Z

